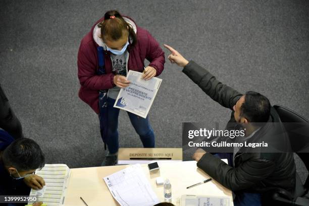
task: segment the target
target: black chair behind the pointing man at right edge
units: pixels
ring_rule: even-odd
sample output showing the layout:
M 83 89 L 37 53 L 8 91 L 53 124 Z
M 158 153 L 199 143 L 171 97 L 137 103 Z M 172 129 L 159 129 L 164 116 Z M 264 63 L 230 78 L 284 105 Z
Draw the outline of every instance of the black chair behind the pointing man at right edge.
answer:
M 309 171 L 309 121 L 303 116 L 294 111 L 280 105 L 274 105 L 274 108 L 279 114 L 285 130 L 289 136 L 292 150 L 299 156 L 304 163 L 307 171 Z M 290 194 L 284 189 L 276 189 L 271 191 L 271 204 L 267 205 L 309 205 L 309 175 L 304 184 L 296 173 L 296 188 L 295 193 Z

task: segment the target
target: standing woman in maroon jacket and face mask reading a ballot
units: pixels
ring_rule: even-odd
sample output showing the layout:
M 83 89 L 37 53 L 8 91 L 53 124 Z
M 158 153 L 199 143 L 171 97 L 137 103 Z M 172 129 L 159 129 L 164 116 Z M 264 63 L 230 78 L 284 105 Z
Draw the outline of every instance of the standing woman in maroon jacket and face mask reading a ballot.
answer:
M 146 67 L 145 59 L 150 61 Z M 109 149 L 102 166 L 117 161 L 119 109 L 113 106 L 120 88 L 130 84 L 126 80 L 127 72 L 144 72 L 143 79 L 149 80 L 162 73 L 164 63 L 159 43 L 148 31 L 117 11 L 107 12 L 82 39 L 77 60 L 79 97 L 99 115 L 102 140 Z M 128 115 L 143 146 L 155 147 L 148 117 L 144 119 L 130 112 Z

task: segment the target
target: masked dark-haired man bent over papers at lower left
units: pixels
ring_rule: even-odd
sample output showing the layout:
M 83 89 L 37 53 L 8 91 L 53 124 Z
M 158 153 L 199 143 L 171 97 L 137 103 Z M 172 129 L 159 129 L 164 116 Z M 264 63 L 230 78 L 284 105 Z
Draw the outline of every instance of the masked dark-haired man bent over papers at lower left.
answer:
M 41 189 L 45 182 L 33 173 L 44 164 L 44 154 L 37 143 L 26 138 L 14 141 L 8 132 L 0 129 L 0 195 L 29 195 L 30 187 Z

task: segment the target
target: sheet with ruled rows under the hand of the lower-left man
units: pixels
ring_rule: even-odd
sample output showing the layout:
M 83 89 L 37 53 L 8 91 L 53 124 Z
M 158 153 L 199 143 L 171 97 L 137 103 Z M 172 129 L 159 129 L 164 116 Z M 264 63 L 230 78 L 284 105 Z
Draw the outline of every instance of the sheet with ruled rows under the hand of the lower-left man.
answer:
M 65 164 L 45 164 L 35 174 L 44 179 L 45 186 L 40 190 L 31 189 L 30 196 L 36 196 L 36 201 L 42 201 L 48 206 L 64 205 L 70 168 Z M 33 201 L 28 204 L 33 204 Z

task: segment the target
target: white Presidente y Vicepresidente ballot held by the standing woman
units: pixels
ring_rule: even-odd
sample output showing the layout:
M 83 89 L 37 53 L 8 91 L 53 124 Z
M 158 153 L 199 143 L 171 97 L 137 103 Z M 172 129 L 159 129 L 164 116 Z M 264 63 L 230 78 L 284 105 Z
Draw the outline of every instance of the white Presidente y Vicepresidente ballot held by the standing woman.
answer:
M 128 72 L 127 80 L 131 83 L 120 90 L 114 107 L 146 118 L 162 80 L 153 77 L 146 81 L 141 79 L 141 76 L 140 72 L 132 70 Z

